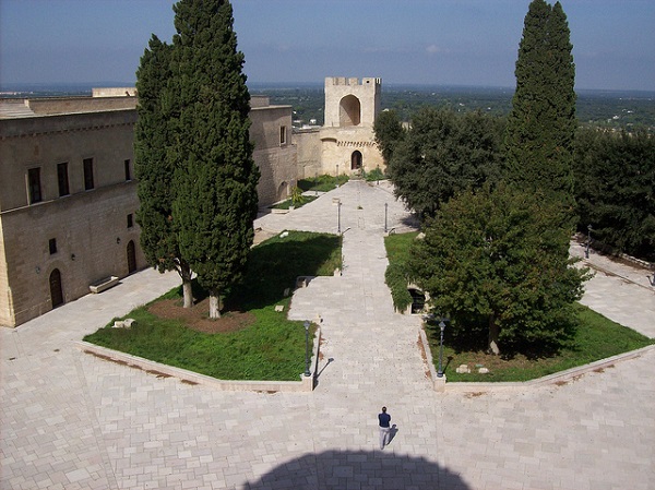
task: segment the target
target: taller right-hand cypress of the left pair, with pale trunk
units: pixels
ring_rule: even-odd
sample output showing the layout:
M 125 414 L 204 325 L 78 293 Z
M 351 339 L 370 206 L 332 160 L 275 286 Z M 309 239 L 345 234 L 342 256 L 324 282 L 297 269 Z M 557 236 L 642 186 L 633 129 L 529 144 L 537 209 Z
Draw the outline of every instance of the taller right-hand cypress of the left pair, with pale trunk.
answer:
M 257 217 L 259 169 L 249 140 L 250 95 L 227 0 L 175 7 L 171 83 L 179 94 L 174 216 L 182 256 L 210 292 L 210 318 L 243 274 Z

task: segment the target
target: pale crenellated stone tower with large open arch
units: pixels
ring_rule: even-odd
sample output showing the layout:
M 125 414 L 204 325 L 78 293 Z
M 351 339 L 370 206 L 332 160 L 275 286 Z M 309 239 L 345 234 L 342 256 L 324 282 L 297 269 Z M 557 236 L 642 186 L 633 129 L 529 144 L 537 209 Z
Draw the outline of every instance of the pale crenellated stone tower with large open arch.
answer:
M 325 79 L 325 122 L 320 131 L 325 174 L 382 168 L 373 123 L 380 112 L 381 79 Z

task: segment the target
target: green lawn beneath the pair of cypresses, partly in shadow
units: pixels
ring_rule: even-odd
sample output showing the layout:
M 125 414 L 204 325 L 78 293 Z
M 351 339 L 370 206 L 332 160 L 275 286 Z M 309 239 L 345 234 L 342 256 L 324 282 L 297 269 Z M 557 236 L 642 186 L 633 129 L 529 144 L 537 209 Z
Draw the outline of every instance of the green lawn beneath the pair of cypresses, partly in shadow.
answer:
M 297 381 L 305 371 L 305 328 L 286 319 L 290 298 L 284 291 L 293 290 L 297 276 L 332 275 L 341 258 L 341 237 L 289 231 L 252 249 L 243 284 L 224 299 L 223 319 L 209 320 L 199 310 L 205 318 L 195 323 L 229 327 L 206 333 L 151 311 L 158 302 L 180 303 L 180 286 L 127 314 L 135 320 L 131 328 L 114 328 L 112 321 L 84 340 L 223 380 Z

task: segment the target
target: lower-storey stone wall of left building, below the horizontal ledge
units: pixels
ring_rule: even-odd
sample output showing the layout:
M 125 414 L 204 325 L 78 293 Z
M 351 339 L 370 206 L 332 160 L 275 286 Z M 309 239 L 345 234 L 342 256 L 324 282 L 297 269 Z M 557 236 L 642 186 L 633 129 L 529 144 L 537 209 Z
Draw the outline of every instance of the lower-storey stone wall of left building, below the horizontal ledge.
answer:
M 0 289 L 11 288 L 12 308 L 1 308 L 0 323 L 14 326 L 51 310 L 49 277 L 55 268 L 69 302 L 87 295 L 90 284 L 98 279 L 128 275 L 130 240 L 136 268 L 145 267 L 134 219 L 138 208 L 136 183 L 130 181 L 3 213 L 7 280 L 0 277 Z M 1 290 L 0 296 L 3 292 L 9 296 Z

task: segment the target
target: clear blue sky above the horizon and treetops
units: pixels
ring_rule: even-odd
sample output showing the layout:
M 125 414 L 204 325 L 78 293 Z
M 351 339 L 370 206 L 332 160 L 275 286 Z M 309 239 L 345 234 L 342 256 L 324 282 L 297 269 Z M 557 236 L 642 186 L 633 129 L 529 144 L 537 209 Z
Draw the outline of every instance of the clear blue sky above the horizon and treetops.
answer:
M 0 86 L 132 84 L 171 0 L 0 0 Z M 529 0 L 234 0 L 252 82 L 514 86 Z M 655 0 L 562 0 L 576 86 L 655 91 Z

